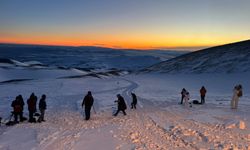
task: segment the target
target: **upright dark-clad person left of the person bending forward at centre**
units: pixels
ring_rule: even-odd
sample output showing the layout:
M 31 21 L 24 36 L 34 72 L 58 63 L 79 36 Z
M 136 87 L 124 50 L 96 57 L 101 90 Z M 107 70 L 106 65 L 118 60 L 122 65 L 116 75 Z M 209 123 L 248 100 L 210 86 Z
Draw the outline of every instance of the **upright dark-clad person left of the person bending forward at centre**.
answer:
M 88 94 L 84 97 L 82 101 L 82 107 L 85 105 L 85 120 L 90 119 L 90 111 L 91 107 L 93 106 L 94 98 L 91 94 L 91 91 L 88 91 Z

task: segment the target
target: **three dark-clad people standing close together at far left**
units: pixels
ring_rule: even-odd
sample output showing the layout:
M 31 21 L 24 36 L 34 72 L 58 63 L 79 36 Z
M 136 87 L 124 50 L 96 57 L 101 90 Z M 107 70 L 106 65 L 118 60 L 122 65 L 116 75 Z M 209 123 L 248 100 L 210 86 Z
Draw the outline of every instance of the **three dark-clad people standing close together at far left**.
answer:
M 23 116 L 23 110 L 24 110 L 24 100 L 22 95 L 18 95 L 16 97 L 15 100 L 12 101 L 11 103 L 11 107 L 13 107 L 13 112 L 12 114 L 14 115 L 14 122 L 18 123 L 18 122 L 23 122 L 24 120 L 26 120 L 26 118 Z M 37 112 L 37 96 L 32 93 L 30 95 L 30 97 L 27 100 L 27 105 L 28 105 L 28 111 L 29 111 L 29 122 L 33 123 L 33 122 L 42 122 L 45 121 L 44 120 L 44 114 L 45 114 L 45 110 L 46 110 L 46 95 L 42 95 L 41 99 L 39 101 L 39 110 L 40 110 L 40 114 L 39 114 L 39 118 L 38 120 L 36 120 L 34 118 L 34 114 Z M 19 118 L 19 120 L 18 120 Z

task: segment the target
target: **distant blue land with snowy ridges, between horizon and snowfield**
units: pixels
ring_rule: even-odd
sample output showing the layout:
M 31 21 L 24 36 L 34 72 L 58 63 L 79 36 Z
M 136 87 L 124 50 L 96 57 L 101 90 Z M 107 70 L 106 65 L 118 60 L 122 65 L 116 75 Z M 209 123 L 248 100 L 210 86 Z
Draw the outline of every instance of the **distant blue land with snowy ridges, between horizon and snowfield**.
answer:
M 124 75 L 184 52 L 0 44 L 0 83 Z

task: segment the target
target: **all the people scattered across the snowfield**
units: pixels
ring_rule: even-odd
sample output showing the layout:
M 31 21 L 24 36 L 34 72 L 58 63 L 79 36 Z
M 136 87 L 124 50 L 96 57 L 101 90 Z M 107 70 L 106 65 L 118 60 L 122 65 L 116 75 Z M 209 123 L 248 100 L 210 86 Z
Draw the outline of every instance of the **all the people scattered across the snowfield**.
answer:
M 204 86 L 201 87 L 200 89 L 200 97 L 201 97 L 201 102 L 197 102 L 197 104 L 205 104 L 205 96 L 206 96 L 207 90 Z M 242 85 L 236 85 L 234 87 L 233 90 L 233 97 L 231 100 L 231 108 L 232 109 L 237 109 L 238 108 L 238 102 L 239 102 L 239 98 L 243 95 L 242 92 Z M 136 105 L 137 105 L 137 97 L 135 95 L 135 93 L 131 93 L 132 96 L 132 103 L 131 103 L 131 109 L 136 109 Z M 189 99 L 190 99 L 190 94 L 189 92 L 183 88 L 181 91 L 181 102 L 180 104 L 183 104 L 187 107 L 189 105 Z M 115 100 L 114 102 L 117 103 L 117 110 L 116 112 L 113 114 L 114 116 L 117 116 L 118 113 L 120 111 L 123 112 L 124 115 L 126 115 L 125 110 L 127 109 L 127 105 L 126 102 L 124 100 L 124 98 L 120 95 L 117 94 L 117 100 Z M 193 101 L 194 103 L 194 101 Z M 83 101 L 82 101 L 82 107 L 85 106 L 85 120 L 89 120 L 90 119 L 90 112 L 91 112 L 91 108 L 93 107 L 94 104 L 94 98 L 92 96 L 91 91 L 88 91 L 88 93 L 86 94 L 86 96 L 84 97 Z M 15 100 L 12 101 L 11 107 L 13 107 L 13 112 L 12 114 L 14 115 L 14 122 L 18 123 L 18 122 L 23 122 L 24 120 L 26 120 L 26 118 L 23 116 L 23 110 L 24 110 L 24 100 L 22 95 L 18 95 L 16 97 Z M 32 93 L 30 95 L 30 97 L 27 100 L 27 105 L 28 105 L 28 111 L 29 111 L 29 122 L 42 122 L 45 121 L 44 120 L 44 114 L 45 114 L 45 110 L 47 108 L 46 105 L 46 95 L 43 94 L 40 98 L 39 101 L 39 110 L 40 110 L 40 114 L 39 114 L 39 118 L 36 120 L 34 118 L 34 114 L 37 112 L 37 96 Z M 19 117 L 19 119 L 18 119 Z M 0 118 L 1 119 L 1 118 Z

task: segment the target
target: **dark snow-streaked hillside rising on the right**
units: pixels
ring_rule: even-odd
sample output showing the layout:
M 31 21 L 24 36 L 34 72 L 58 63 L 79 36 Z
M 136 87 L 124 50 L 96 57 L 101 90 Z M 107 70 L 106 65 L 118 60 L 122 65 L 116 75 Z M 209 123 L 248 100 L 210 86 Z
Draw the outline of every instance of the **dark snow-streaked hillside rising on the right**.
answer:
M 250 72 L 250 40 L 184 54 L 142 71 L 174 74 Z

